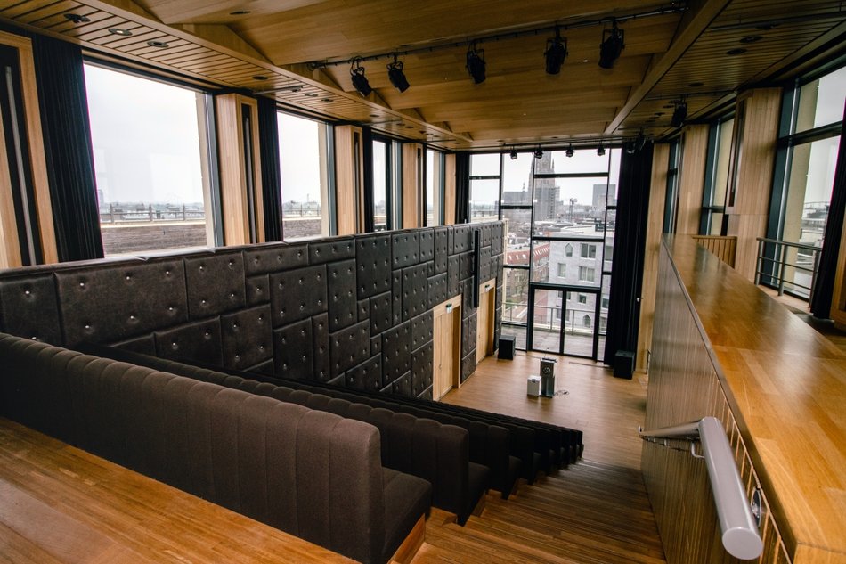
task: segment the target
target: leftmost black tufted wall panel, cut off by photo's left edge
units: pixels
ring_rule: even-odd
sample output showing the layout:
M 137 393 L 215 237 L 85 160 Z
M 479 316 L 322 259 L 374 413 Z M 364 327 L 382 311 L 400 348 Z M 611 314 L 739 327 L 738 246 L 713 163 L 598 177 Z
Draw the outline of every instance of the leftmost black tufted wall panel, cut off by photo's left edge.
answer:
M 51 345 L 63 343 L 52 274 L 0 281 L 0 330 Z

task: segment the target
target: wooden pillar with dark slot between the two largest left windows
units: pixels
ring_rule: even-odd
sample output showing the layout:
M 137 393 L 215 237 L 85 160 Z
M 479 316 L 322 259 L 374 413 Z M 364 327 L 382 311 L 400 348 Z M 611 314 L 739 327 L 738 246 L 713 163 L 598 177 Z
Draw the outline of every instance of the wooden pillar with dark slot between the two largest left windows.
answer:
M 258 102 L 241 94 L 215 98 L 224 245 L 264 242 Z

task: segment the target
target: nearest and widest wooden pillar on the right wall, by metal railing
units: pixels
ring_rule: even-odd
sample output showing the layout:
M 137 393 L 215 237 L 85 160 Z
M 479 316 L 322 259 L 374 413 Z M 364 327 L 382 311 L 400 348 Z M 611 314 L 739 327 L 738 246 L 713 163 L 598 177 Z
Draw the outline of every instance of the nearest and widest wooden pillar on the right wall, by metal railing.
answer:
M 756 239 L 767 233 L 780 107 L 780 88 L 751 90 L 737 99 L 726 214 L 728 234 L 737 237 L 735 269 L 750 281 L 755 278 Z

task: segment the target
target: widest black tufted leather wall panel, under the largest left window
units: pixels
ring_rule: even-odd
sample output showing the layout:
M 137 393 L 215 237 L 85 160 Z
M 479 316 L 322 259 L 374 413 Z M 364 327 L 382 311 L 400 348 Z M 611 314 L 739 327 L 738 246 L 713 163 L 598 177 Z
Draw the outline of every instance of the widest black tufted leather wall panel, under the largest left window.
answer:
M 125 340 L 188 321 L 182 258 L 54 275 L 67 347 Z

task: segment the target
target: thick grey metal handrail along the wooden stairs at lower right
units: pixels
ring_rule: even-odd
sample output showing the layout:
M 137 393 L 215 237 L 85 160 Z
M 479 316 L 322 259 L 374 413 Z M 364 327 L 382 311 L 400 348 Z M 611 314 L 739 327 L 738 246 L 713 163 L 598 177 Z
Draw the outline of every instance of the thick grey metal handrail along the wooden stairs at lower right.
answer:
M 639 429 L 639 434 L 647 440 L 698 439 L 702 443 L 702 454 L 696 454 L 695 445 L 691 445 L 691 454 L 705 459 L 722 531 L 722 545 L 729 554 L 741 560 L 761 556 L 764 544 L 722 423 L 715 417 L 704 417 L 701 421 L 675 427 Z

